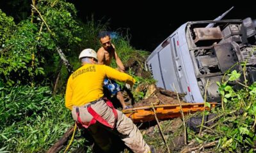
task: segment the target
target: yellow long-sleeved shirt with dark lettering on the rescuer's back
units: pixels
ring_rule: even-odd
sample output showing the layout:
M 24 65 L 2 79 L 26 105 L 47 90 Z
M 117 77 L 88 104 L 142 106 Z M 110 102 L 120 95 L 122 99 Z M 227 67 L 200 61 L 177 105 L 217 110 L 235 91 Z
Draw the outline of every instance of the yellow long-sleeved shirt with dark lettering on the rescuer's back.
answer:
M 68 78 L 65 106 L 81 106 L 103 96 L 104 78 L 134 84 L 135 80 L 126 73 L 101 64 L 85 64 Z

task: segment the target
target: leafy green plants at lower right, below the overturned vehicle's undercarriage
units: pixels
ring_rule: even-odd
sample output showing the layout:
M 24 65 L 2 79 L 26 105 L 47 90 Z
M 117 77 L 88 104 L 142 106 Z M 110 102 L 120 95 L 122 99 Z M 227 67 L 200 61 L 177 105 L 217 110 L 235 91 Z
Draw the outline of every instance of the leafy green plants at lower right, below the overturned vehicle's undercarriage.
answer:
M 214 124 L 204 127 L 204 133 L 198 135 L 190 131 L 191 139 L 198 143 L 217 140 L 214 152 L 255 152 L 256 84 L 248 85 L 245 73 L 228 71 L 227 79 L 223 77 L 222 82 L 217 82 L 222 100 L 221 107 L 212 110 L 216 114 L 211 119 Z

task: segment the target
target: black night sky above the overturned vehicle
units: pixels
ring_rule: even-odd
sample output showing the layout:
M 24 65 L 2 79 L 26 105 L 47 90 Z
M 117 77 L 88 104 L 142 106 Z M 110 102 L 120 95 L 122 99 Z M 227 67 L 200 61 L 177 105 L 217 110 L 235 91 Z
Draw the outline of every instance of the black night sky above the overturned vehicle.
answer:
M 223 0 L 225 1 L 225 0 Z M 234 6 L 223 19 L 256 18 L 256 1 L 72 1 L 83 20 L 93 13 L 96 20 L 110 18 L 111 30 L 129 28 L 131 45 L 152 52 L 175 29 L 187 21 L 213 20 Z M 231 3 L 232 2 L 232 3 Z

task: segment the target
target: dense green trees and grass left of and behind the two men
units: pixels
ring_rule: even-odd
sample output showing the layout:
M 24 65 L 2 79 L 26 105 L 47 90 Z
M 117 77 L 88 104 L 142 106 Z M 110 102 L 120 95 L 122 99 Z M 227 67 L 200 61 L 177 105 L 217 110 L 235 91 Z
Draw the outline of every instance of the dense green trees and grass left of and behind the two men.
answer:
M 70 72 L 57 50 L 77 69 L 81 50 L 97 51 L 97 34 L 109 29 L 93 16 L 77 20 L 76 8 L 65 0 L 32 1 L 24 8 L 31 12 L 15 20 L 0 10 L 0 152 L 46 152 L 74 124 L 64 106 Z M 134 54 L 147 55 L 134 50 L 122 31 L 115 34 L 124 64 Z M 83 142 L 75 140 L 73 149 Z

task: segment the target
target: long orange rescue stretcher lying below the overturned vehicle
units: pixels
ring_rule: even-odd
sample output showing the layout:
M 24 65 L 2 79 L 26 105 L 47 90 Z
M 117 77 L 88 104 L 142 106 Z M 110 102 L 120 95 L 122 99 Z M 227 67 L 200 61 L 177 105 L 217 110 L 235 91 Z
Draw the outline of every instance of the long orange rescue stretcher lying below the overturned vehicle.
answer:
M 210 103 L 211 108 L 215 107 L 218 103 Z M 182 110 L 184 115 L 188 113 L 195 113 L 204 111 L 204 103 L 183 103 Z M 157 119 L 170 119 L 181 116 L 180 105 L 155 105 Z M 211 110 L 205 107 L 205 110 Z M 147 122 L 155 120 L 154 110 L 152 106 L 141 106 L 130 108 L 122 111 L 127 117 L 131 118 L 133 122 Z

